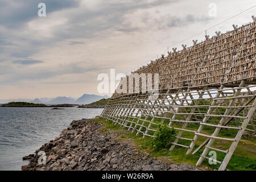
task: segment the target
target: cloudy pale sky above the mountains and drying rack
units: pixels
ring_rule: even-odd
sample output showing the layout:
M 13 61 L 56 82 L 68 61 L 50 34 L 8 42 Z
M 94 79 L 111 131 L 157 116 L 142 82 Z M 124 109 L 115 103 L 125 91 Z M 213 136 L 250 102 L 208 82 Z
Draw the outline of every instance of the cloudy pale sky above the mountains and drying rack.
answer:
M 209 13 L 212 3 L 216 14 Z M 167 47 L 201 42 L 206 29 L 254 5 L 254 0 L 0 0 L 0 100 L 111 96 L 98 93 L 100 73 L 129 74 L 167 55 Z M 252 22 L 255 10 L 207 34 Z

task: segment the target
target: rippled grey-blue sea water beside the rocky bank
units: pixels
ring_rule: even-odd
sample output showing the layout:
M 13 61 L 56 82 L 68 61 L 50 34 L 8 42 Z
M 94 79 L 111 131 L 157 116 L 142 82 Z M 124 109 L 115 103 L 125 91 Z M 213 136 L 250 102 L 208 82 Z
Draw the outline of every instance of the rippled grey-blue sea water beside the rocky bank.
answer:
M 0 107 L 0 170 L 21 170 L 22 157 L 59 137 L 73 120 L 94 118 L 103 109 Z

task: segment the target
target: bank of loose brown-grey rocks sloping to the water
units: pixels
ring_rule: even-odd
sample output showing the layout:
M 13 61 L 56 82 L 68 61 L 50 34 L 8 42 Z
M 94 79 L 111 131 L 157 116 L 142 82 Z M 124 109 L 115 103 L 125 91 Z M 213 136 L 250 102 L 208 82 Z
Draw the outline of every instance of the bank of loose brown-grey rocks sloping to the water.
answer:
M 23 160 L 29 160 L 30 164 L 22 166 L 22 170 L 200 170 L 189 164 L 172 163 L 167 158 L 152 158 L 138 150 L 131 140 L 121 138 L 113 130 L 101 130 L 102 127 L 102 123 L 90 119 L 73 121 L 60 137 L 44 144 L 35 154 L 24 156 Z M 46 152 L 45 165 L 38 164 L 39 151 Z

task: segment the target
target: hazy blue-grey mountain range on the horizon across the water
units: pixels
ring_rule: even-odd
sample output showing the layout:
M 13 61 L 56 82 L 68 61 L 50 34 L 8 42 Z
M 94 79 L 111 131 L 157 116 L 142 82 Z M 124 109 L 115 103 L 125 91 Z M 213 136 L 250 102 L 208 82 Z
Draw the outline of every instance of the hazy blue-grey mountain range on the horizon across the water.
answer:
M 8 102 L 31 102 L 34 104 L 90 104 L 101 100 L 102 98 L 109 98 L 109 96 L 98 96 L 95 94 L 84 94 L 77 100 L 72 97 L 56 97 L 56 98 L 35 98 L 34 100 L 17 99 L 17 100 L 0 100 L 0 103 Z

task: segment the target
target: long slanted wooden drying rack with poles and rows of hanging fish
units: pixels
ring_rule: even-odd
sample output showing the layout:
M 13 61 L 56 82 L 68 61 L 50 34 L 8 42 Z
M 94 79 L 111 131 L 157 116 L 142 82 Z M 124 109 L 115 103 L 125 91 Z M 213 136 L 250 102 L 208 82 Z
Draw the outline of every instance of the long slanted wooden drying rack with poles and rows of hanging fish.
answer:
M 219 170 L 225 170 L 243 132 L 256 133 L 256 91 L 251 89 L 256 87 L 256 22 L 235 27 L 202 43 L 194 42 L 192 47 L 175 49 L 133 72 L 159 73 L 159 98 L 149 100 L 150 90 L 114 93 L 101 117 L 143 137 L 155 137 L 157 127 L 168 122 L 168 127 L 178 131 L 171 151 L 177 146 L 187 148 L 187 154 L 196 154 L 205 147 L 197 166 L 209 159 L 209 150 L 224 152 L 224 160 L 216 162 L 221 164 Z M 192 124 L 198 127 L 189 128 Z M 204 134 L 205 126 L 214 127 L 214 132 Z M 226 129 L 236 130 L 236 137 L 218 135 Z M 184 132 L 192 133 L 193 138 L 185 138 Z M 193 151 L 199 137 L 208 139 Z M 190 145 L 184 145 L 183 140 Z M 221 150 L 214 147 L 214 140 L 232 144 L 229 150 Z

